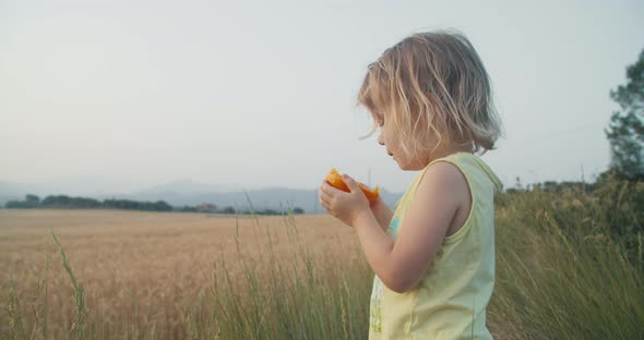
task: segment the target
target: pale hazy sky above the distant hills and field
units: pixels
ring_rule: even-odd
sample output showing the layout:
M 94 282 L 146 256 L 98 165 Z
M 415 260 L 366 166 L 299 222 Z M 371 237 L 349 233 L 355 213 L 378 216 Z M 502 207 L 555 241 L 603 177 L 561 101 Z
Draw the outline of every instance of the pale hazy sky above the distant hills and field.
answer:
M 437 28 L 492 78 L 506 137 L 484 159 L 506 186 L 593 179 L 642 17 L 642 1 L 0 0 L 0 181 L 314 189 L 337 167 L 402 192 L 415 173 L 358 141 L 356 94 L 385 48 Z

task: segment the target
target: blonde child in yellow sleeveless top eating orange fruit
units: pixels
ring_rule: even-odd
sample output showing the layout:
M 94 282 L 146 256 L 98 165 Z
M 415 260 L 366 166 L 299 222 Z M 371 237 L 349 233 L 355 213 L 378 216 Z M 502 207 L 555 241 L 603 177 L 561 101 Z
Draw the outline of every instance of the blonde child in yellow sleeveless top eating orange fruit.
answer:
M 501 183 L 475 153 L 493 148 L 501 123 L 480 58 L 462 34 L 412 35 L 369 65 L 358 100 L 389 156 L 419 171 L 395 211 L 381 198 L 369 205 L 346 174 L 350 193 L 320 187 L 322 206 L 355 228 L 375 274 L 369 338 L 491 339 Z

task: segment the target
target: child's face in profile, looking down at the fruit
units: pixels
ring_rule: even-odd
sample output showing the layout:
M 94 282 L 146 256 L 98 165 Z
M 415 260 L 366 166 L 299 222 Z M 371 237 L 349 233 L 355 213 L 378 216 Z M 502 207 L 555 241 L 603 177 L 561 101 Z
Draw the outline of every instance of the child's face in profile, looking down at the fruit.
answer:
M 414 157 L 405 151 L 401 143 L 401 136 L 395 133 L 391 122 L 387 124 L 387 120 L 383 116 L 373 114 L 373 119 L 380 126 L 378 144 L 385 147 L 386 154 L 398 163 L 402 170 L 421 170 L 429 163 L 426 157 L 421 157 L 421 155 Z

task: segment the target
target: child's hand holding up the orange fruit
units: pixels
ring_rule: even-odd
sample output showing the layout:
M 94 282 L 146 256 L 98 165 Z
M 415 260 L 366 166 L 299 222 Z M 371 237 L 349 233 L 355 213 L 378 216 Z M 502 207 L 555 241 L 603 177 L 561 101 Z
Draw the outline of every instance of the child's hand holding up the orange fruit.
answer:
M 320 204 L 329 214 L 353 227 L 358 216 L 372 212 L 358 183 L 347 174 L 343 174 L 342 179 L 350 192 L 337 190 L 324 181 L 320 185 Z

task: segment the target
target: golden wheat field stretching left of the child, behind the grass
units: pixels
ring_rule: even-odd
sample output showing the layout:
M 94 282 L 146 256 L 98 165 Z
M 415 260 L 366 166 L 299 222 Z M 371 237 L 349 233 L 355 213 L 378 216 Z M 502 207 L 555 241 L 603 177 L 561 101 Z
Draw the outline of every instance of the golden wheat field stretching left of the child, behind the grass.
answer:
M 295 226 L 295 227 L 294 227 Z M 234 277 L 245 260 L 267 256 L 293 262 L 310 247 L 322 260 L 359 256 L 354 231 L 325 216 L 238 218 L 207 214 L 120 210 L 0 209 L 0 272 L 5 301 L 14 281 L 28 312 L 38 278 L 50 258 L 48 305 L 51 321 L 69 323 L 73 314 L 71 281 L 51 238 L 53 231 L 86 292 L 93 315 L 122 324 L 184 315 L 188 301 L 204 296 L 222 258 Z M 270 241 L 270 243 L 269 243 Z M 223 257 L 222 257 L 223 256 Z M 217 264 L 219 269 L 215 269 Z M 3 303 L 3 305 L 5 302 Z M 8 327 L 0 312 L 0 327 Z M 128 327 L 123 325 L 123 327 Z

